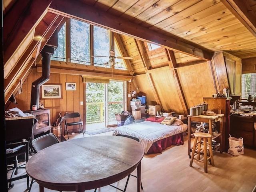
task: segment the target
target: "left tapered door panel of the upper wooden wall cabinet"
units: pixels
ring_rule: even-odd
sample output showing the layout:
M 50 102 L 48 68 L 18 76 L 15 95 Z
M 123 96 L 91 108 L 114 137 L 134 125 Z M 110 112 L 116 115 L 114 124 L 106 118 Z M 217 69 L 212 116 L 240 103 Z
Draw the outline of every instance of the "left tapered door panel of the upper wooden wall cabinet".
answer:
M 230 94 L 235 94 L 235 61 L 230 58 L 225 57 L 226 69 L 228 74 L 228 84 L 230 89 Z

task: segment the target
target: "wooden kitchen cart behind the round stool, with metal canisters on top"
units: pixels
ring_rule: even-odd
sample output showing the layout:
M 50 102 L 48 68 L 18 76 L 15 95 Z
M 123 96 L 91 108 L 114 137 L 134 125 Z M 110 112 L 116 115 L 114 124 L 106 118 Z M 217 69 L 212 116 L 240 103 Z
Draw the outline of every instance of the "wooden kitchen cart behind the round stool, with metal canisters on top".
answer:
M 207 116 L 207 115 L 198 115 L 198 116 L 192 116 L 192 115 L 188 115 L 188 156 L 190 156 L 190 152 L 192 151 L 191 148 L 191 137 L 194 136 L 194 134 L 191 134 L 191 122 L 204 122 L 204 123 L 208 123 L 209 124 L 209 134 L 212 135 L 212 122 L 220 122 L 220 128 L 219 128 L 219 132 L 217 134 L 217 136 L 213 137 L 212 139 L 215 138 L 220 138 L 220 149 L 222 149 L 222 129 L 223 129 L 223 121 L 222 121 L 222 117 L 224 116 L 224 114 L 216 114 L 216 116 Z M 217 148 L 218 149 L 218 148 Z M 217 150 L 216 149 L 216 150 Z M 222 152 L 222 151 L 220 151 Z

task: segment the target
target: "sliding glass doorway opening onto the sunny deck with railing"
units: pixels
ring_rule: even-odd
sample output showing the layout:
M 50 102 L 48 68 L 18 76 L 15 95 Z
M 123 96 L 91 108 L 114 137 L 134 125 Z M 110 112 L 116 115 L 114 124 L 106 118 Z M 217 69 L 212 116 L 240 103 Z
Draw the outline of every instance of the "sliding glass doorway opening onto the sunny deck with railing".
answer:
M 86 82 L 86 130 L 116 126 L 115 114 L 126 110 L 126 81 Z

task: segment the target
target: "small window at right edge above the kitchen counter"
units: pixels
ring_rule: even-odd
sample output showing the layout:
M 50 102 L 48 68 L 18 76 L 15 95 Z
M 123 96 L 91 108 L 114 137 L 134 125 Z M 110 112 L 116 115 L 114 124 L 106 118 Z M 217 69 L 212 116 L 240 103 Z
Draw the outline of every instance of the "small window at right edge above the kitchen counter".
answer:
M 256 73 L 242 74 L 242 99 L 256 96 Z

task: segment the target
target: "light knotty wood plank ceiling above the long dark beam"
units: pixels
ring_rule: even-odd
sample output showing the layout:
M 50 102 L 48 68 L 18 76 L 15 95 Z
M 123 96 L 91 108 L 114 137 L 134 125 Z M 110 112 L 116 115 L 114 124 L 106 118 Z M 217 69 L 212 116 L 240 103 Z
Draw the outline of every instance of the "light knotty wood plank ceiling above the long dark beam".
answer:
M 81 0 L 161 34 L 240 58 L 256 56 L 256 38 L 220 0 Z M 249 0 L 252 8 L 254 0 Z

